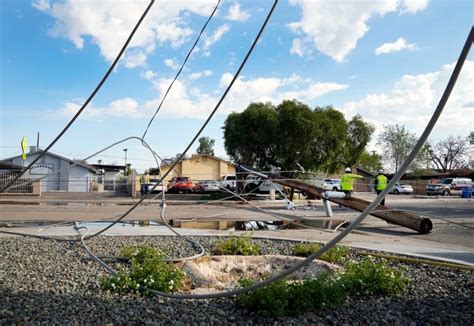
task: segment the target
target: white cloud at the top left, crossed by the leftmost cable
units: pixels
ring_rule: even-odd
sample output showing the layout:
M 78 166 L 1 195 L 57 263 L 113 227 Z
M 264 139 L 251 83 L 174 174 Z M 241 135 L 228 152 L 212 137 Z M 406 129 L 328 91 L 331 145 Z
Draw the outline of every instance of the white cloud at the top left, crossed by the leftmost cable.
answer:
M 32 6 L 54 18 L 49 30 L 51 36 L 66 38 L 78 49 L 82 49 L 85 40 L 90 38 L 102 56 L 111 62 L 148 3 L 147 0 L 37 0 Z M 183 13 L 207 16 L 214 6 L 214 0 L 155 2 L 129 45 L 128 51 L 139 50 L 137 53 L 140 54 L 130 55 L 127 66 L 144 65 L 157 44 L 181 46 L 193 32 L 186 26 L 188 20 L 180 16 Z

